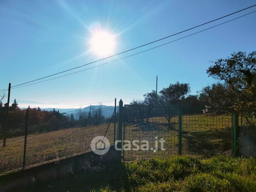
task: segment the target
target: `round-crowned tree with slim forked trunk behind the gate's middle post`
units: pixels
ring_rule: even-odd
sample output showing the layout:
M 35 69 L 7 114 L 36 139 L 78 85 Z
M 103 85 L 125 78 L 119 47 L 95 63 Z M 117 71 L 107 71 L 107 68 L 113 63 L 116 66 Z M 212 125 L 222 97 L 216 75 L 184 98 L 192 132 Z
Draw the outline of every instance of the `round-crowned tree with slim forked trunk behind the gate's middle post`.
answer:
M 178 81 L 175 84 L 170 84 L 169 87 L 163 88 L 160 91 L 160 97 L 157 102 L 160 105 L 164 106 L 165 109 L 165 118 L 168 121 L 168 128 L 171 128 L 171 118 L 175 114 L 170 107 L 179 106 L 181 102 L 184 101 L 186 95 L 190 92 L 190 86 L 188 83 L 179 83 Z

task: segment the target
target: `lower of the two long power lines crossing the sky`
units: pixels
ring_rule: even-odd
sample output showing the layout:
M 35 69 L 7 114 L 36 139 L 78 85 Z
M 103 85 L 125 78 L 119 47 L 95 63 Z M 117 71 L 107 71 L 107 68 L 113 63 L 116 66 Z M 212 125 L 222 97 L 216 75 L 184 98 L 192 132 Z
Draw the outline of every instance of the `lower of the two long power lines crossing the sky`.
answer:
M 231 20 L 229 20 L 229 21 L 225 21 L 225 22 L 220 23 L 220 24 L 218 24 L 218 25 L 214 25 L 213 27 L 206 28 L 206 29 L 201 30 L 201 31 L 198 31 L 198 32 L 196 32 L 196 33 L 192 33 L 192 34 L 190 34 L 190 35 L 186 35 L 186 36 L 181 37 L 181 38 L 179 38 L 179 39 L 175 39 L 175 40 L 173 40 L 173 41 L 169 41 L 169 42 L 167 42 L 167 43 L 164 43 L 164 44 L 161 44 L 161 45 L 158 45 L 158 46 L 155 46 L 155 47 L 152 47 L 152 48 L 149 48 L 149 49 L 146 49 L 146 50 L 143 50 L 143 51 L 140 51 L 140 52 L 137 52 L 137 53 L 128 55 L 128 56 L 125 56 L 125 57 L 123 57 L 123 58 L 119 58 L 119 59 L 116 59 L 116 60 L 113 60 L 113 61 L 110 61 L 110 62 L 107 62 L 107 63 L 103 63 L 103 64 L 100 64 L 100 65 L 97 65 L 97 66 L 93 66 L 93 67 L 91 67 L 91 68 L 87 68 L 87 69 L 84 69 L 84 70 L 80 70 L 80 71 L 77 71 L 77 72 L 73 72 L 73 73 L 70 73 L 70 74 L 66 74 L 66 75 L 63 75 L 63 76 L 59 76 L 59 77 L 56 77 L 56 78 L 52 78 L 52 79 L 48 79 L 48 80 L 44 80 L 44 81 L 39 81 L 39 82 L 36 82 L 36 83 L 31 83 L 31 84 L 23 85 L 23 86 L 19 86 L 19 87 L 15 87 L 15 86 L 18 86 L 18 85 L 15 85 L 15 86 L 14 86 L 15 88 L 13 88 L 13 89 L 17 89 L 17 88 L 20 88 L 20 87 L 26 87 L 26 86 L 34 85 L 34 84 L 37 84 L 37 83 L 42 83 L 42 82 L 45 82 L 45 81 L 50 81 L 50 80 L 62 78 L 62 77 L 69 76 L 69 75 L 72 75 L 72 74 L 76 74 L 76 73 L 79 73 L 79 72 L 83 72 L 83 71 L 86 71 L 86 70 L 89 70 L 89 69 L 92 69 L 92 68 L 96 68 L 96 67 L 99 67 L 99 66 L 103 66 L 103 65 L 106 65 L 106 64 L 109 64 L 109 63 L 112 63 L 112 62 L 116 62 L 116 61 L 119 61 L 119 60 L 122 60 L 122 59 L 125 59 L 125 58 L 128 58 L 128 57 L 131 57 L 131 56 L 135 56 L 135 55 L 137 55 L 137 54 L 140 54 L 140 53 L 143 53 L 143 52 L 146 52 L 146 51 L 149 51 L 149 50 L 158 48 L 158 47 L 162 47 L 162 46 L 164 46 L 164 45 L 173 43 L 173 42 L 175 42 L 175 41 L 184 39 L 184 38 L 186 38 L 186 37 L 190 37 L 190 36 L 192 36 L 192 35 L 196 35 L 196 34 L 201 33 L 201 32 L 203 32 L 203 31 L 207 31 L 207 30 L 209 30 L 209 29 L 212 29 L 212 28 L 217 27 L 217 26 L 219 26 L 219 25 L 223 25 L 223 24 L 228 23 L 228 22 L 230 22 L 230 21 L 234 21 L 234 20 L 236 20 L 236 19 L 239 19 L 239 18 L 241 18 L 241 17 L 247 16 L 247 15 L 252 14 L 252 13 L 254 13 L 254 12 L 256 12 L 256 11 L 250 12 L 250 13 L 248 13 L 248 14 L 244 14 L 244 15 L 242 15 L 242 16 L 236 17 L 236 18 L 231 19 Z M 23 84 L 24 84 L 24 83 L 23 83 Z

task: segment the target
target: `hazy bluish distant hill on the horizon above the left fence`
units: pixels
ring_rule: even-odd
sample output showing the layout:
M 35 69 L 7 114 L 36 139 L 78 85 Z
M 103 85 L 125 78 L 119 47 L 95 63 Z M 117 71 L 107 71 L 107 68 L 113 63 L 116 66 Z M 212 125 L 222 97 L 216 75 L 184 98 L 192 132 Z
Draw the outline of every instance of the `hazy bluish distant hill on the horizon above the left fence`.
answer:
M 54 108 L 56 111 L 60 111 L 60 113 L 66 113 L 65 115 L 70 115 L 70 114 L 74 114 L 75 118 L 77 118 L 77 115 L 78 114 L 78 110 L 80 108 L 77 108 L 77 109 L 58 109 L 58 108 Z M 91 105 L 91 112 L 93 112 L 93 110 L 97 110 L 99 109 L 99 105 Z M 106 118 L 109 118 L 112 116 L 113 112 L 114 112 L 114 106 L 107 106 L 107 105 L 101 105 L 101 109 L 102 109 L 102 114 L 106 117 Z M 43 108 L 42 110 L 45 110 L 45 111 L 52 111 L 53 108 Z M 90 106 L 88 107 L 84 107 L 81 109 L 82 112 L 89 112 L 90 111 Z

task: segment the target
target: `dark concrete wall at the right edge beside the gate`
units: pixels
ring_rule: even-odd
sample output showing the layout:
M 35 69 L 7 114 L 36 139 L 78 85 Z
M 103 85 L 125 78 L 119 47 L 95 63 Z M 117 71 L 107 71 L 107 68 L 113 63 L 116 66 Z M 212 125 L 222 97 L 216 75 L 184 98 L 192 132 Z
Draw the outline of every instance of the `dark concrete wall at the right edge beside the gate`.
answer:
M 242 157 L 256 157 L 256 129 L 239 129 L 238 150 Z

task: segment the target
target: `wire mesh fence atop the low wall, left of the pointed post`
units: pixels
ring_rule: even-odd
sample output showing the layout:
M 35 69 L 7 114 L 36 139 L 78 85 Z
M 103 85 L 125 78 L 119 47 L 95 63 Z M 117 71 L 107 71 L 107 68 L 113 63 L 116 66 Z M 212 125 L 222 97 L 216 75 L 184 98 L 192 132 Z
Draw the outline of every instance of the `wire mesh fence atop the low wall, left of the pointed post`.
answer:
M 89 152 L 96 136 L 106 136 L 114 144 L 118 107 L 95 106 L 90 112 L 78 110 L 76 116 L 43 113 L 23 110 L 8 126 L 0 124 L 0 174 Z

